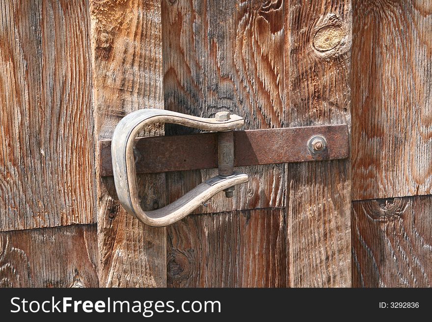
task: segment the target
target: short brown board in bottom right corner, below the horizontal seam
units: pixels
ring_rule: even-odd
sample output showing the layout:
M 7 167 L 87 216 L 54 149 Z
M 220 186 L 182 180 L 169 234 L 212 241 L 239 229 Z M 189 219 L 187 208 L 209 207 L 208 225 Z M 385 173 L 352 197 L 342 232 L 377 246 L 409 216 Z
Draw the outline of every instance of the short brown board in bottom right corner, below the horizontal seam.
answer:
M 355 201 L 355 287 L 432 286 L 432 197 Z

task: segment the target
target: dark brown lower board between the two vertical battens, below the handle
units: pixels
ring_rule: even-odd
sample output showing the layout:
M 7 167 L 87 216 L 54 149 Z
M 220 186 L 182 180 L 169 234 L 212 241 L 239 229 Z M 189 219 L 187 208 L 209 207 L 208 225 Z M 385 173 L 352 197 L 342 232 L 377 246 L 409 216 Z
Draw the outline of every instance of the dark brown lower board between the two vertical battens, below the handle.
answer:
M 167 227 L 169 287 L 286 287 L 285 208 L 189 216 Z

